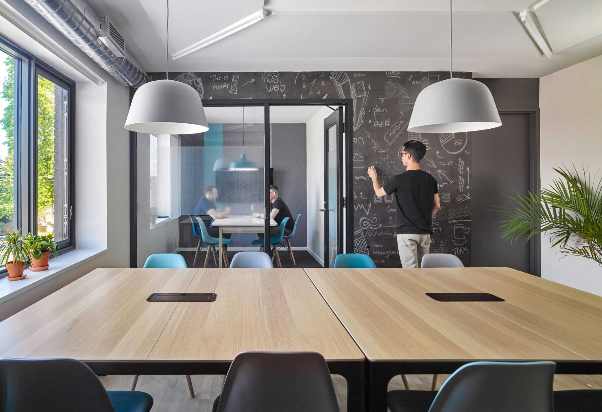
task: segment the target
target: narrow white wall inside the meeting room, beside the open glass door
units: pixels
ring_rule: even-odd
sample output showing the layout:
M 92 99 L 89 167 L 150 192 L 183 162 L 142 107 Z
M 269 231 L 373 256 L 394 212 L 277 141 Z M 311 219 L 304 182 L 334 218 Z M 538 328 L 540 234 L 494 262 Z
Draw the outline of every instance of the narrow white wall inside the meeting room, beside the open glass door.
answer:
M 307 248 L 324 263 L 324 106 L 306 123 L 307 134 Z

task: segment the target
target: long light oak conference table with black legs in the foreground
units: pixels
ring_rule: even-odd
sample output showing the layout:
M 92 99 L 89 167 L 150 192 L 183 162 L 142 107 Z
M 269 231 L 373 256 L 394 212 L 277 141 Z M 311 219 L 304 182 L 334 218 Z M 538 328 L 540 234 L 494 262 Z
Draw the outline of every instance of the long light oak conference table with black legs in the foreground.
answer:
M 147 302 L 155 292 L 217 299 Z M 369 411 L 386 411 L 395 375 L 448 374 L 474 360 L 600 374 L 600 342 L 602 297 L 509 268 L 101 268 L 0 322 L 0 357 L 76 358 L 102 375 L 225 374 L 241 351 L 320 352 L 346 378 L 354 411 L 365 396 Z

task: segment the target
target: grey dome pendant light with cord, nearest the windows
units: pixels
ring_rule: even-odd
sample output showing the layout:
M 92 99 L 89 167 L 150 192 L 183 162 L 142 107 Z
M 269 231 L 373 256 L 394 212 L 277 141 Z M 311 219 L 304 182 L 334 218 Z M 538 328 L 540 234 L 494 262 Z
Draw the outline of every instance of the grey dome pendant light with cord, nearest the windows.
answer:
M 169 0 L 167 0 L 166 79 L 138 88 L 129 106 L 125 128 L 132 132 L 164 135 L 203 133 L 209 130 L 203 103 L 194 88 L 169 79 Z

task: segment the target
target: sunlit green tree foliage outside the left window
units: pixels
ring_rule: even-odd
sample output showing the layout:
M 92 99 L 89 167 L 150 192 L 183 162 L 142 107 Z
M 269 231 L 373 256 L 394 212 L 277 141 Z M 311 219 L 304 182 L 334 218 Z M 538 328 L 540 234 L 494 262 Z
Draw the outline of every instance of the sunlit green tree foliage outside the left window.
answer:
M 1 144 L 7 146 L 8 149 L 6 159 L 0 162 L 0 225 L 3 232 L 6 226 L 12 226 L 14 220 L 14 63 L 13 57 L 6 56 L 4 59 L 7 77 L 2 83 L 1 94 L 2 99 L 8 102 L 0 120 L 6 135 Z M 46 215 L 54 216 L 55 85 L 42 76 L 38 76 L 37 83 L 37 209 L 39 216 L 44 220 Z M 54 231 L 54 225 L 48 229 L 50 230 L 47 230 L 45 225 L 38 224 L 38 233 L 51 233 Z

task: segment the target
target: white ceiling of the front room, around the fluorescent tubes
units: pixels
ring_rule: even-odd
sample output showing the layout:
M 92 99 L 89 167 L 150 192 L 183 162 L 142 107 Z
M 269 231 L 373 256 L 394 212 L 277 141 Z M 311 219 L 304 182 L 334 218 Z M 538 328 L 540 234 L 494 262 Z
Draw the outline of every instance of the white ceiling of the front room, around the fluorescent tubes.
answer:
M 87 0 L 108 14 L 147 72 L 165 70 L 166 0 Z M 555 52 L 541 57 L 513 11 L 533 0 L 456 0 L 454 70 L 474 77 L 541 77 L 602 54 L 602 0 L 539 0 Z M 176 61 L 170 71 L 449 69 L 447 0 L 178 0 L 173 54 L 260 8 L 273 16 Z M 539 16 L 541 13 L 541 16 Z

